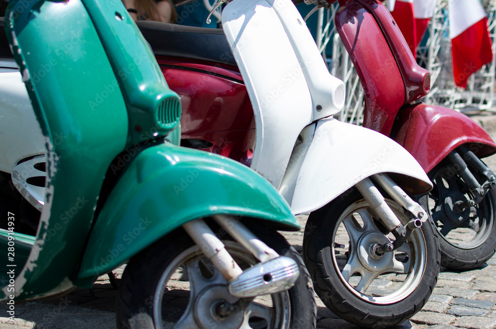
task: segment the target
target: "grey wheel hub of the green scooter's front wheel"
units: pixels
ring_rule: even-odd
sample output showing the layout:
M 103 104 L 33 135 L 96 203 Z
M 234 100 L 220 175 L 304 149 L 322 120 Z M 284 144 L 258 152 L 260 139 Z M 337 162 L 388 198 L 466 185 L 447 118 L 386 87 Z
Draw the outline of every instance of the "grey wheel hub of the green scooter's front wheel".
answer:
M 245 310 L 233 310 L 230 306 L 238 301 L 228 291 L 227 284 L 207 286 L 194 303 L 194 319 L 201 329 L 240 328 L 245 320 Z M 226 313 L 225 310 L 231 310 Z

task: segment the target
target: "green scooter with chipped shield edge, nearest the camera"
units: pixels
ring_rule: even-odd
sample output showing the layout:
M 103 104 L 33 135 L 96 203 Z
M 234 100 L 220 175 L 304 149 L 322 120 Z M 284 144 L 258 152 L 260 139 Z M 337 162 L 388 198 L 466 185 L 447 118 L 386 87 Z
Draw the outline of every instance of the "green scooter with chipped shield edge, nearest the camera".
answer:
M 0 214 L 8 317 L 127 262 L 118 328 L 315 327 L 308 272 L 275 231 L 300 229 L 289 206 L 243 165 L 178 146 L 180 99 L 120 0 L 14 0 L 5 30 L 48 159 L 36 235 Z

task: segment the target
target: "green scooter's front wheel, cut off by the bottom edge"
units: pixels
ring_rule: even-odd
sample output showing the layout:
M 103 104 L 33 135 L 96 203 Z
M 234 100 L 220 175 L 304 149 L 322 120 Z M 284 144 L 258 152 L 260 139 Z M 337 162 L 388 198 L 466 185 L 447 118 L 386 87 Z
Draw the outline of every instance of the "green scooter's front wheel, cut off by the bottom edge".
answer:
M 239 300 L 229 294 L 226 279 L 204 256 L 201 247 L 179 229 L 128 263 L 117 298 L 117 327 L 314 329 L 313 289 L 300 255 L 272 230 L 265 228 L 257 236 L 299 264 L 300 276 L 291 289 L 257 296 L 252 301 Z M 222 242 L 242 269 L 258 263 L 229 236 L 224 234 Z

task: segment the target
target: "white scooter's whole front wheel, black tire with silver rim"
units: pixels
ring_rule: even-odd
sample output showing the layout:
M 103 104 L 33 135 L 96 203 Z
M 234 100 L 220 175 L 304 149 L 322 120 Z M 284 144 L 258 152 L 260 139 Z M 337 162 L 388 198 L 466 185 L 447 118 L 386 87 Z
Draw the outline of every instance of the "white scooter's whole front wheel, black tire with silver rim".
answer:
M 409 218 L 403 209 L 392 200 L 386 201 L 406 224 Z M 351 217 L 359 212 L 360 217 Z M 315 292 L 332 312 L 357 326 L 385 328 L 409 319 L 428 301 L 439 273 L 439 244 L 436 231 L 427 221 L 422 228 L 413 231 L 400 249 L 372 259 L 370 253 L 361 252 L 370 250 L 368 246 L 374 243 L 387 242 L 384 235 L 387 230 L 376 221 L 378 216 L 372 214 L 368 202 L 356 189 L 337 197 L 310 214 L 305 227 L 303 251 L 305 263 L 314 280 Z M 344 223 L 348 226 L 345 227 Z M 343 228 L 344 233 L 341 231 Z M 394 240 L 391 234 L 387 236 Z M 346 243 L 349 243 L 348 247 Z M 361 247 L 357 248 L 358 245 Z M 363 265 L 365 260 L 374 270 Z M 402 278 L 391 273 L 394 270 L 392 265 L 386 264 L 403 267 L 403 271 L 408 274 L 402 283 L 393 282 L 389 287 L 377 284 L 379 281 L 374 278 L 381 271 L 385 271 L 386 276 L 394 276 L 394 281 Z M 412 269 L 418 271 L 418 274 Z M 362 271 L 360 273 L 364 275 L 356 276 L 359 273 L 357 271 Z M 364 284 L 362 291 L 357 290 L 368 274 L 372 279 L 364 282 L 371 282 L 370 285 Z M 381 281 L 384 284 L 392 282 L 392 278 L 383 279 L 387 279 Z M 397 295 L 393 295 L 393 292 Z

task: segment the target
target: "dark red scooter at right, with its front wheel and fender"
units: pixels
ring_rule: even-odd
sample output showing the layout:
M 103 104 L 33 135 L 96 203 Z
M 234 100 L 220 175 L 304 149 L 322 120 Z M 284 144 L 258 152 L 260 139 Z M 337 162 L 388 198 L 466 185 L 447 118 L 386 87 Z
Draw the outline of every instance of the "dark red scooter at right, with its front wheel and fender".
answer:
M 430 73 L 380 1 L 338 2 L 336 29 L 365 91 L 363 126 L 397 141 L 428 173 L 434 188 L 421 201 L 441 235 L 441 265 L 479 267 L 496 250 L 496 176 L 480 160 L 496 152 L 494 141 L 467 116 L 418 101 Z

